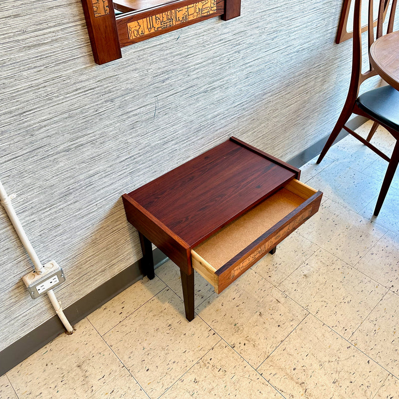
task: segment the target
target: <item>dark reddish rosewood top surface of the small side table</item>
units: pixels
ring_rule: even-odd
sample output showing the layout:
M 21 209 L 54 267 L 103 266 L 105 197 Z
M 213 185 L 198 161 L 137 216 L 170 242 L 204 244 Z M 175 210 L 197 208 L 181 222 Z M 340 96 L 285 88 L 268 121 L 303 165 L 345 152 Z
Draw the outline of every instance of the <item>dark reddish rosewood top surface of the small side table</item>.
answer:
M 190 246 L 298 177 L 299 170 L 227 140 L 128 194 Z

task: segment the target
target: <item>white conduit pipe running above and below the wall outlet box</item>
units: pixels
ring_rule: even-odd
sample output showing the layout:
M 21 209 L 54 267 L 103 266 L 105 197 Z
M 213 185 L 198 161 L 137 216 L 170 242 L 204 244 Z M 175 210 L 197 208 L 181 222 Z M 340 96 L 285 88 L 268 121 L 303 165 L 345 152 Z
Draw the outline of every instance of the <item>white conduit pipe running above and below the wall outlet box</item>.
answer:
M 18 216 L 15 213 L 15 210 L 11 204 L 11 200 L 13 198 L 15 198 L 14 195 L 7 196 L 7 193 L 5 192 L 5 189 L 0 181 L 0 203 L 1 203 L 1 205 L 4 206 L 4 209 L 7 212 L 12 225 L 14 226 L 16 233 L 18 234 L 23 246 L 26 249 L 26 252 L 28 253 L 30 259 L 32 260 L 34 269 L 36 270 L 36 272 L 38 274 L 41 274 L 43 265 L 41 264 L 38 256 L 36 255 L 36 252 L 33 249 L 25 231 L 23 230 L 22 224 L 20 223 Z M 59 304 L 59 302 L 57 301 L 57 298 L 55 297 L 54 291 L 53 290 L 47 291 L 47 295 L 50 298 L 51 304 L 53 305 L 53 308 L 54 308 L 55 312 L 57 313 L 58 317 L 60 318 L 62 324 L 64 325 L 66 331 L 69 334 L 72 334 L 73 327 L 70 325 L 68 319 L 65 317 L 64 312 L 62 311 L 61 305 Z

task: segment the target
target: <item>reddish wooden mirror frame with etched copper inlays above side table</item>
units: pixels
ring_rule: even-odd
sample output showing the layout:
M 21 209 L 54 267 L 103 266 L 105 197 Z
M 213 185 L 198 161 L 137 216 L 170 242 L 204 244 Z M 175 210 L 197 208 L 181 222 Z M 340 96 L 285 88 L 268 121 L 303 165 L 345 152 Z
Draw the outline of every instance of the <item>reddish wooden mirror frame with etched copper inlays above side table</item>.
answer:
M 122 58 L 121 47 L 218 15 L 226 21 L 241 10 L 241 0 L 173 0 L 115 16 L 112 0 L 81 2 L 97 64 Z

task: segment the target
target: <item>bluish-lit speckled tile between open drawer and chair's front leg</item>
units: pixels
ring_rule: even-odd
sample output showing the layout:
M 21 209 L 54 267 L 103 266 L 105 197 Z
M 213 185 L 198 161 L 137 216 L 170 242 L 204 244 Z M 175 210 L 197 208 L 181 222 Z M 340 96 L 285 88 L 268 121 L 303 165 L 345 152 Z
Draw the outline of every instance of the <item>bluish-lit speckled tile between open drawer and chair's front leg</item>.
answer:
M 362 172 L 336 162 L 306 182 L 324 196 L 359 212 L 380 192 L 381 183 Z

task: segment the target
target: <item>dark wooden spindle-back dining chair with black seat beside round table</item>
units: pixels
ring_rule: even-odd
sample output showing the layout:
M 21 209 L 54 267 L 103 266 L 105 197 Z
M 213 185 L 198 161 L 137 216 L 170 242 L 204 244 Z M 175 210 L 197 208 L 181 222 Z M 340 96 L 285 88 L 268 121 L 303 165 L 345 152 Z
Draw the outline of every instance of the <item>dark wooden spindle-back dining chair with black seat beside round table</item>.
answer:
M 373 44 L 374 40 L 383 35 L 383 22 L 388 21 L 387 33 L 393 31 L 395 11 L 398 0 L 380 0 L 379 12 L 377 18 L 377 29 L 375 35 L 373 15 L 373 0 L 369 0 L 369 19 L 368 19 L 368 48 Z M 389 3 L 392 2 L 391 8 Z M 390 10 L 390 12 L 388 11 Z M 377 75 L 377 72 L 370 65 L 367 72 L 362 73 L 362 26 L 361 26 L 362 0 L 355 0 L 354 18 L 353 18 L 353 56 L 352 56 L 352 75 L 349 85 L 349 92 L 345 101 L 344 108 L 340 117 L 327 140 L 326 145 L 321 152 L 317 164 L 319 164 L 326 155 L 329 148 L 333 145 L 335 139 L 342 129 L 345 129 L 352 136 L 356 137 L 363 144 L 373 150 L 380 157 L 388 161 L 388 169 L 381 187 L 380 195 L 377 200 L 374 214 L 377 216 L 381 210 L 381 206 L 388 193 L 392 179 L 399 162 L 399 91 L 391 86 L 382 86 L 367 91 L 359 96 L 360 85 L 371 76 Z M 398 51 L 398 49 L 393 49 Z M 373 127 L 366 139 L 355 133 L 346 126 L 348 119 L 352 114 L 361 115 L 374 121 Z M 378 148 L 370 143 L 378 126 L 386 128 L 392 136 L 397 140 L 391 158 L 381 152 Z

